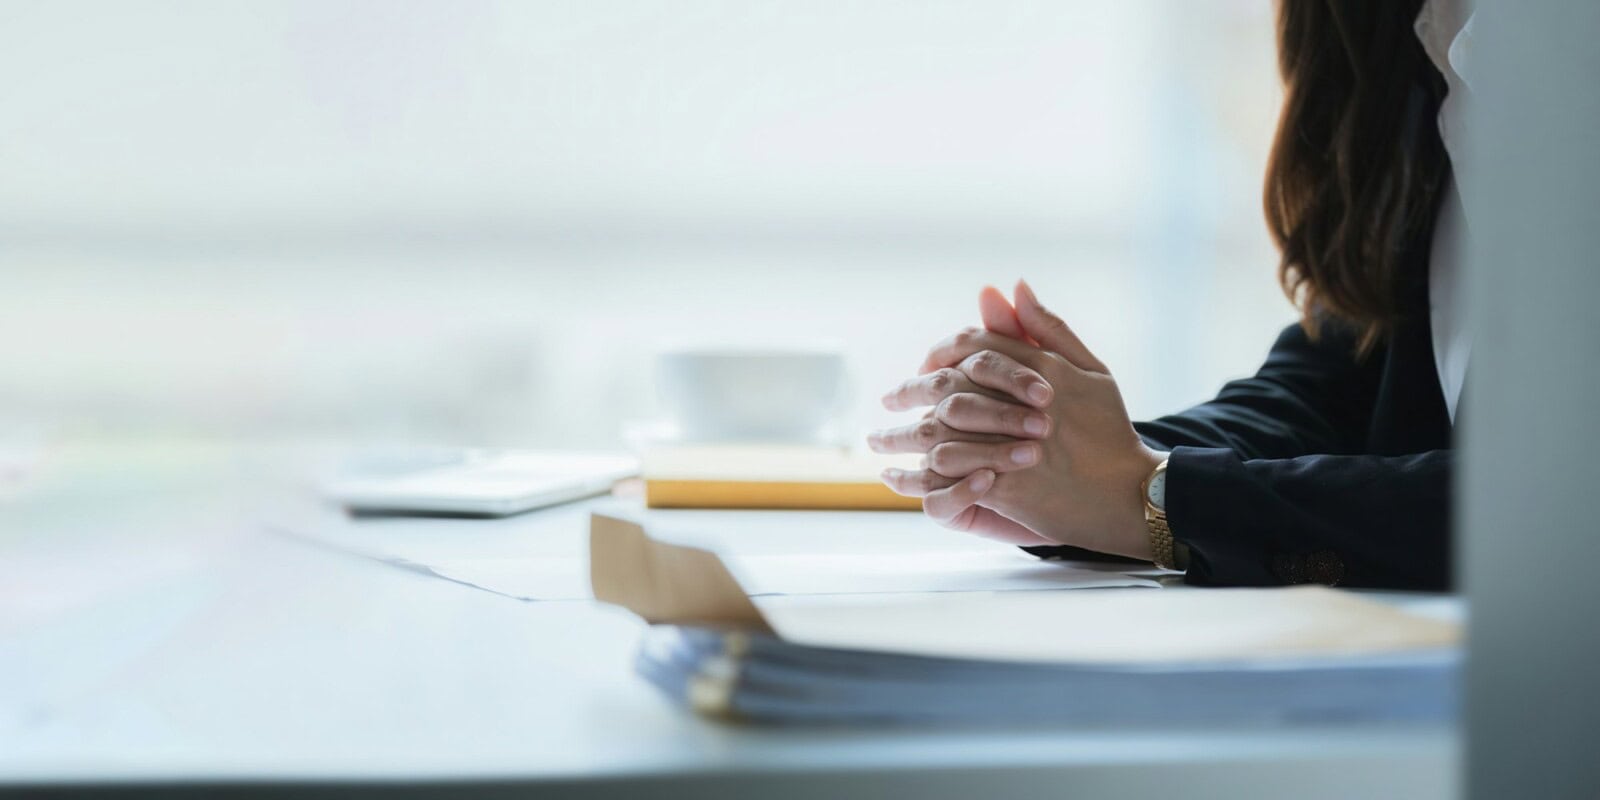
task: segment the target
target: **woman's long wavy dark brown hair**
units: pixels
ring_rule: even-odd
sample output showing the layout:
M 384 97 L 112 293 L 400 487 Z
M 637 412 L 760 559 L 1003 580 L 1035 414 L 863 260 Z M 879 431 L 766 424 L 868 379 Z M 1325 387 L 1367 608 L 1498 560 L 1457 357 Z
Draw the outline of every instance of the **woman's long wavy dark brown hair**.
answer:
M 1445 80 L 1416 40 L 1422 0 L 1278 0 L 1283 112 L 1267 163 L 1278 280 L 1307 331 L 1368 352 L 1400 318 L 1406 248 L 1429 235 L 1450 162 Z

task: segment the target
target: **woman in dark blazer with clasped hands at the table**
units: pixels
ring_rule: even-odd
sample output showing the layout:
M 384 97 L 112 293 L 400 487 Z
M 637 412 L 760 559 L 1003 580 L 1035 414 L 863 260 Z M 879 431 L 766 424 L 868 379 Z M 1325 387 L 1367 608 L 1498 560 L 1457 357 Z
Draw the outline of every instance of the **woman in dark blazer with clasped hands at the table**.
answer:
M 1467 344 L 1445 98 L 1461 88 L 1461 16 L 1280 2 L 1266 210 L 1302 320 L 1254 378 L 1131 424 L 1106 365 L 1026 283 L 1014 306 L 984 290 L 986 330 L 936 346 L 885 398 L 934 406 L 870 437 L 926 454 L 885 482 L 1040 555 L 1154 560 L 1194 584 L 1448 587 Z

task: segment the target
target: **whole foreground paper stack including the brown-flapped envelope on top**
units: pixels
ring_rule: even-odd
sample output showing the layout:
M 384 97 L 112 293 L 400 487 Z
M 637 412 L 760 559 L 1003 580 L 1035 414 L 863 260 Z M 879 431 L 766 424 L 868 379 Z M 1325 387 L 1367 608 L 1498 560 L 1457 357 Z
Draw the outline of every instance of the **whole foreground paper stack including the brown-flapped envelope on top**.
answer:
M 707 550 L 590 525 L 595 597 L 654 622 L 638 670 L 765 722 L 1293 723 L 1454 714 L 1459 626 L 1322 587 L 757 606 Z

